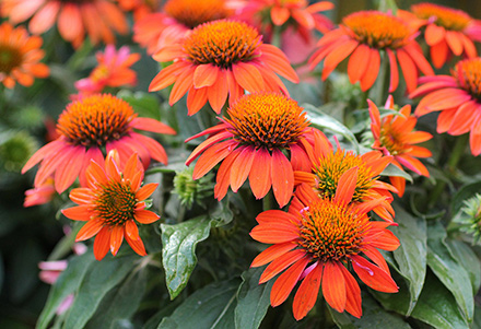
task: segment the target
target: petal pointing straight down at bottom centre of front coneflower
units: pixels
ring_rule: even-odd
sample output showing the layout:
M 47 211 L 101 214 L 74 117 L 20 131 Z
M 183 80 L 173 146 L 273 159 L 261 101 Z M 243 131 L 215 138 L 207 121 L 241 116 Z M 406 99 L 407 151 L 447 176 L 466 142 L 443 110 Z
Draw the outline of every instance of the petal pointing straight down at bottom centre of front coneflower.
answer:
M 330 307 L 339 313 L 345 308 L 345 280 L 340 269 L 342 265 L 328 261 L 324 266 L 322 294 Z

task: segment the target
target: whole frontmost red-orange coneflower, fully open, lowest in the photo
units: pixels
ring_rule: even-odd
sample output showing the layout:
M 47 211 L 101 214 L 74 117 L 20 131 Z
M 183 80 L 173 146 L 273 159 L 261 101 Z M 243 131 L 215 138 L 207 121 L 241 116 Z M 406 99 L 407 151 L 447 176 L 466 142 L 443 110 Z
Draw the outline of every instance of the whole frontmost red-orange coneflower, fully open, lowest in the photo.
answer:
M 272 285 L 272 306 L 282 304 L 302 281 L 293 303 L 297 320 L 315 305 L 320 285 L 324 298 L 337 312 L 362 316 L 361 290 L 347 267 L 352 266 L 361 281 L 374 290 L 398 291 L 378 249 L 395 250 L 399 240 L 386 228 L 389 223 L 369 221 L 367 212 L 379 204 L 378 199 L 350 203 L 354 197 L 355 172 L 355 167 L 351 169 L 353 179 L 340 181 L 332 199 L 319 198 L 302 185 L 288 213 L 265 211 L 256 219 L 259 225 L 250 232 L 254 239 L 273 244 L 251 263 L 260 267 L 270 262 L 259 283 L 283 272 Z

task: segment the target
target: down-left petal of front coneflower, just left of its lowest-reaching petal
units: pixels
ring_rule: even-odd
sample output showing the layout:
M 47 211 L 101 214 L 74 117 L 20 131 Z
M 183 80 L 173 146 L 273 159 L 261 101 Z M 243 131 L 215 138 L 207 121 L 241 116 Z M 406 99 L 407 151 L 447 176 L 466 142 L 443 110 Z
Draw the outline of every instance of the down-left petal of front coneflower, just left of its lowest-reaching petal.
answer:
M 304 257 L 297 260 L 284 273 L 279 275 L 278 280 L 275 280 L 272 285 L 270 294 L 272 307 L 279 306 L 285 302 L 309 261 L 309 258 Z

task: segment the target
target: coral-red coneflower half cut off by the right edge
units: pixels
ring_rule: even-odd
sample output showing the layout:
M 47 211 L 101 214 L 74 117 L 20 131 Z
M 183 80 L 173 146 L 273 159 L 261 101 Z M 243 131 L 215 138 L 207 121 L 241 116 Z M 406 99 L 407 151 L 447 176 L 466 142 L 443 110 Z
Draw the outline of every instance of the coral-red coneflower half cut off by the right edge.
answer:
M 409 96 L 424 96 L 414 114 L 423 116 L 441 110 L 437 132 L 453 136 L 470 131 L 473 155 L 481 154 L 481 58 L 459 61 L 451 75 L 423 77 Z

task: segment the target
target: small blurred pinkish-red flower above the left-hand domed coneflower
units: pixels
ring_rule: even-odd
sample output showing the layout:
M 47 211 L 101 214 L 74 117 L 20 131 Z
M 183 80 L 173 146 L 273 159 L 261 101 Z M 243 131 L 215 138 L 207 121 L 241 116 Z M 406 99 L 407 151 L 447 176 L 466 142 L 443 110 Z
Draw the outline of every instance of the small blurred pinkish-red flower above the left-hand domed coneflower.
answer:
M 140 59 L 140 55 L 130 54 L 129 47 L 120 47 L 117 51 L 114 45 L 108 45 L 105 52 L 98 51 L 96 57 L 98 66 L 89 78 L 75 82 L 75 87 L 82 95 L 101 93 L 107 86 L 137 83 L 137 73 L 130 67 Z

